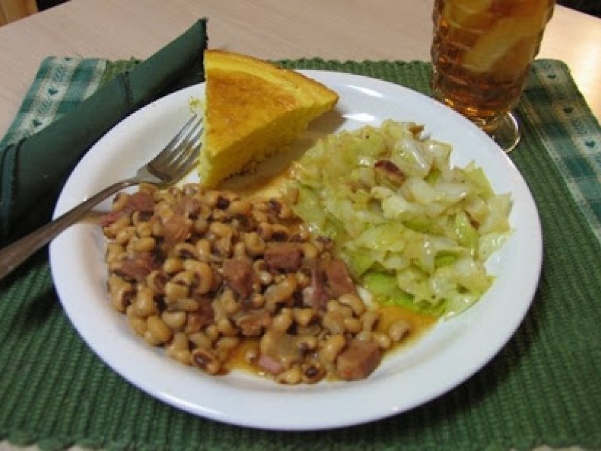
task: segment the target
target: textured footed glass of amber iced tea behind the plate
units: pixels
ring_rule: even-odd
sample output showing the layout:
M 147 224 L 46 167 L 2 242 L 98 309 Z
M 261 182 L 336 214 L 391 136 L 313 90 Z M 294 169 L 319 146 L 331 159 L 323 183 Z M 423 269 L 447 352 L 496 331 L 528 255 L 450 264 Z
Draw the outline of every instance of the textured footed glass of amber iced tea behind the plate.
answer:
M 510 152 L 513 109 L 555 0 L 435 0 L 432 91 Z

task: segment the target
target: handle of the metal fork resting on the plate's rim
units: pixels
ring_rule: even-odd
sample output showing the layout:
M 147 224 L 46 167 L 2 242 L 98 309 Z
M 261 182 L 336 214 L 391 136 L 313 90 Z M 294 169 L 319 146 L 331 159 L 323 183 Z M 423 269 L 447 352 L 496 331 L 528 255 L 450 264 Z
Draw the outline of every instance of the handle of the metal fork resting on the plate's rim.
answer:
M 127 188 L 128 186 L 137 185 L 139 182 L 140 180 L 134 177 L 108 186 L 108 188 L 103 189 L 88 200 L 35 230 L 35 232 L 29 233 L 29 235 L 24 236 L 19 241 L 0 250 L 0 280 L 7 274 L 10 274 L 10 272 L 17 268 L 21 263 L 25 262 L 25 260 L 32 256 L 35 251 L 56 238 L 56 236 L 67 229 L 67 227 L 70 227 L 70 225 L 79 221 L 79 219 L 97 204 L 112 194 L 115 194 L 115 192 Z

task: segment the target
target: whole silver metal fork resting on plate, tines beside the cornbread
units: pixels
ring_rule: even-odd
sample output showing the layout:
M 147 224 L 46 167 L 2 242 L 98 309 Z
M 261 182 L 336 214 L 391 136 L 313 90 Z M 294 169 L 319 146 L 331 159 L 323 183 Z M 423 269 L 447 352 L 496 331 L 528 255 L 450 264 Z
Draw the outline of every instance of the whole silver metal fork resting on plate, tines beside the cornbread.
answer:
M 140 183 L 152 183 L 164 188 L 182 179 L 197 161 L 202 132 L 203 124 L 200 118 L 197 115 L 192 116 L 165 149 L 139 168 L 135 176 L 103 189 L 54 221 L 0 250 L 0 280 L 67 227 L 83 218 L 94 206 L 121 189 Z

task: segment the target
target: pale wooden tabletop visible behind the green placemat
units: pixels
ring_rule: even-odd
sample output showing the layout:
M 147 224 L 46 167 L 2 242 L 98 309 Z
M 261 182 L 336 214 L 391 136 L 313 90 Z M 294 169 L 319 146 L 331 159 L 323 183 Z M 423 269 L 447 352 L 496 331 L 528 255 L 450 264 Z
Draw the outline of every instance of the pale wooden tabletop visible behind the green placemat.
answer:
M 146 58 L 209 17 L 213 48 L 282 59 L 430 60 L 433 0 L 70 0 L 0 27 L 0 133 L 48 55 Z M 314 11 L 320 11 L 319 14 Z M 565 61 L 601 118 L 601 19 L 557 7 L 540 58 Z

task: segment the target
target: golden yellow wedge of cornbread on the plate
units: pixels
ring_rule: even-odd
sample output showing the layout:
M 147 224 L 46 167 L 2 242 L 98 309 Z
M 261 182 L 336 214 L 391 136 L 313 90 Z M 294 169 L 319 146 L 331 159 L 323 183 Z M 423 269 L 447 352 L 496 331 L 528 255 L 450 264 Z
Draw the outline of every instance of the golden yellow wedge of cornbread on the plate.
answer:
M 204 186 L 283 150 L 338 101 L 319 82 L 246 55 L 207 50 L 204 71 Z

